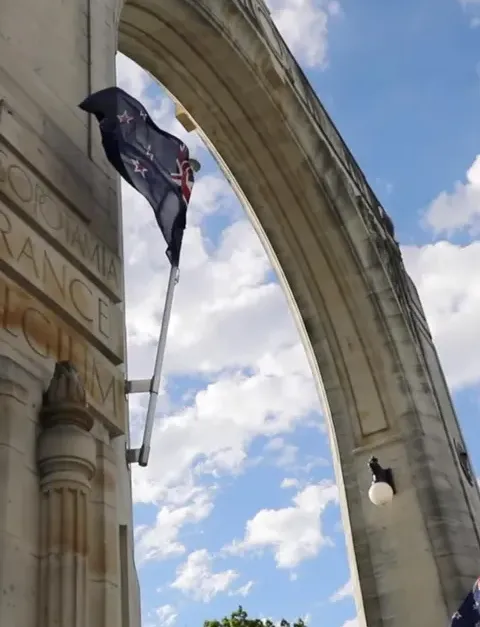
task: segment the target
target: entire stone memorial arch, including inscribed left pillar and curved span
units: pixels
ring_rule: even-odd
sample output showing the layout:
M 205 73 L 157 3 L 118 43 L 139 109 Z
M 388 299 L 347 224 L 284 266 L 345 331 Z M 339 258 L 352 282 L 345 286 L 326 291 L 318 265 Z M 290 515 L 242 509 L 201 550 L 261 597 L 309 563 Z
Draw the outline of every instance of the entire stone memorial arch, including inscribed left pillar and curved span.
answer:
M 77 108 L 117 46 L 208 137 L 289 296 L 360 625 L 446 624 L 480 558 L 465 443 L 393 226 L 263 0 L 0 4 L 0 624 L 140 627 L 119 187 Z

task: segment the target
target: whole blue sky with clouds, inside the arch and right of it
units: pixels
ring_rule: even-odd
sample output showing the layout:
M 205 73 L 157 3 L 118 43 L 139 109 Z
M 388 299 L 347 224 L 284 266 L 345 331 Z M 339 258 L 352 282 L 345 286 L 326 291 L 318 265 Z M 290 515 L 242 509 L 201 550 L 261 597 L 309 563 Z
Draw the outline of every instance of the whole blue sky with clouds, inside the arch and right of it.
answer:
M 269 4 L 394 218 L 479 468 L 480 3 Z M 202 163 L 152 457 L 133 473 L 144 627 L 200 625 L 239 603 L 354 627 L 327 436 L 281 288 L 196 134 L 138 66 L 119 55 L 117 71 Z M 126 186 L 123 205 L 129 375 L 143 378 L 168 268 L 150 207 Z M 145 405 L 132 399 L 137 440 Z

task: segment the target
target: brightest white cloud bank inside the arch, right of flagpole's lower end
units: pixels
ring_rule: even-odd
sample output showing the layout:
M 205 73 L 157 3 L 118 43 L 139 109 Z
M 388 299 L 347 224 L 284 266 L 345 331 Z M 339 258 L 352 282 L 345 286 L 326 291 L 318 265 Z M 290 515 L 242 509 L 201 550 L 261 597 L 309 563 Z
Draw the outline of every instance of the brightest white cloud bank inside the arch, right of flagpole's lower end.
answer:
M 173 487 L 189 486 L 192 469 L 236 472 L 255 437 L 292 430 L 317 400 L 308 372 L 294 366 L 299 350 L 278 351 L 275 374 L 261 360 L 251 376 L 222 376 L 198 392 L 193 405 L 157 420 L 155 455 L 146 469 L 133 469 L 136 500 L 157 502 Z

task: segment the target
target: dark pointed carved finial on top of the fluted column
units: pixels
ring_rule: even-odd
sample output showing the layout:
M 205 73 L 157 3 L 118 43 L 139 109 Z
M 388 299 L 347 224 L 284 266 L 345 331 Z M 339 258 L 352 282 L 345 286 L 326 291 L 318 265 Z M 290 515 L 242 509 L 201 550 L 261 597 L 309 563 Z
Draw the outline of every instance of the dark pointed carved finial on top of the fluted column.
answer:
M 43 397 L 40 418 L 44 427 L 59 423 L 75 424 L 85 431 L 93 427 L 83 382 L 69 361 L 55 364 L 52 380 Z

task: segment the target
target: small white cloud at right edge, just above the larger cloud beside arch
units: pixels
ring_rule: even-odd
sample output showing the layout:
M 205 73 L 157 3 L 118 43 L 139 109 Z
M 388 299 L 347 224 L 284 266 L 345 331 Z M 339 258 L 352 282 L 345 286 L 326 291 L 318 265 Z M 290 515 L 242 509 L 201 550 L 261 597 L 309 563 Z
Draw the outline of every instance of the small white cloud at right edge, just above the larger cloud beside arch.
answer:
M 464 183 L 457 181 L 452 192 L 443 191 L 427 208 L 425 223 L 436 233 L 447 236 L 455 231 L 480 229 L 480 155 L 466 173 Z

